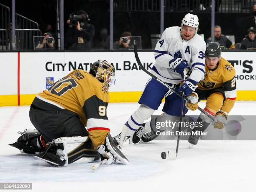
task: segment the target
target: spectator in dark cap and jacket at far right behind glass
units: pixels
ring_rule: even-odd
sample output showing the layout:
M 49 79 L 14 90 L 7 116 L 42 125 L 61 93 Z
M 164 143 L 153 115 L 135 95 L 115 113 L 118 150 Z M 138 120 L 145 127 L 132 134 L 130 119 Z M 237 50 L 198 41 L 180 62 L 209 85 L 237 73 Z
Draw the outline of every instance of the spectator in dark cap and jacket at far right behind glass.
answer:
M 248 30 L 248 35 L 241 42 L 241 49 L 247 50 L 255 50 L 256 49 L 256 29 L 254 27 L 250 27 Z

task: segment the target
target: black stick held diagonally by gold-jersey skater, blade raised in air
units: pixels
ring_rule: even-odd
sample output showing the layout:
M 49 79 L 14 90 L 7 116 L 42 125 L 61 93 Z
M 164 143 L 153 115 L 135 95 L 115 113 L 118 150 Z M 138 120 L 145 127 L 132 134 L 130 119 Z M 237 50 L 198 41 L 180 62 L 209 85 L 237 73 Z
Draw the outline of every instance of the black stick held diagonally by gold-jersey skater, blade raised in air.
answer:
M 138 57 L 138 52 L 137 52 L 137 45 L 134 45 L 134 55 L 136 58 L 136 61 L 139 65 L 139 67 L 141 68 L 141 70 L 143 70 L 144 72 L 146 72 L 148 75 L 150 75 L 151 77 L 153 77 L 155 80 L 157 80 L 158 82 L 160 82 L 162 85 L 164 85 L 165 87 L 169 88 L 170 90 L 172 90 L 175 94 L 177 94 L 179 97 L 182 97 L 182 94 L 180 94 L 179 92 L 177 92 L 175 89 L 172 88 L 171 85 L 167 84 L 166 82 L 164 82 L 163 80 L 161 80 L 160 78 L 156 77 L 155 75 L 153 75 L 151 72 L 147 71 L 146 68 L 141 64 L 140 58 Z M 184 97 L 184 100 L 186 100 L 187 102 L 190 102 L 187 97 Z M 209 113 L 207 113 L 205 110 L 203 110 L 201 107 L 197 108 L 198 110 L 200 110 L 203 114 L 205 114 L 207 117 L 209 117 L 212 121 L 215 121 L 214 117 L 212 117 L 212 115 L 210 115 Z

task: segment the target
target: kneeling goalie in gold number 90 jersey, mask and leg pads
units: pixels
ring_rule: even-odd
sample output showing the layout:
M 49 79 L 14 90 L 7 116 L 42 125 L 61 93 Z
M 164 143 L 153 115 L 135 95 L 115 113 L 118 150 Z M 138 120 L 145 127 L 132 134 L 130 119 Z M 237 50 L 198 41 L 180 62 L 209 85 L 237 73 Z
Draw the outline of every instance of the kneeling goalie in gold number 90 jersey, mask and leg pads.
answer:
M 96 160 L 100 146 L 99 152 L 107 157 L 107 164 L 112 164 L 116 158 L 122 161 L 122 153 L 117 149 L 117 155 L 111 147 L 113 140 L 107 117 L 108 88 L 114 78 L 113 65 L 98 60 L 91 65 L 90 72 L 74 70 L 55 82 L 48 90 L 36 95 L 31 104 L 29 117 L 39 133 L 24 132 L 17 142 L 10 145 L 22 152 L 41 152 L 36 157 L 52 165 L 67 165 L 81 157 L 95 157 Z M 82 140 L 77 136 L 85 138 L 84 142 L 67 154 L 64 143 L 59 144 L 64 140 L 73 140 L 71 143 Z M 50 150 L 47 143 L 50 143 Z M 108 152 L 111 155 L 106 155 Z

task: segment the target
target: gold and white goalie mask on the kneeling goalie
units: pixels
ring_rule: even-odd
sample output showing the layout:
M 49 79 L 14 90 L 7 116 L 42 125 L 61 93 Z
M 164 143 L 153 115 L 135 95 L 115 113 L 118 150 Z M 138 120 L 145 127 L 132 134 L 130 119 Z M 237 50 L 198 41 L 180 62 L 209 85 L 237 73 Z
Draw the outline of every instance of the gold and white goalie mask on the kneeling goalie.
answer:
M 90 67 L 90 74 L 110 87 L 115 80 L 115 67 L 107 61 L 97 60 Z

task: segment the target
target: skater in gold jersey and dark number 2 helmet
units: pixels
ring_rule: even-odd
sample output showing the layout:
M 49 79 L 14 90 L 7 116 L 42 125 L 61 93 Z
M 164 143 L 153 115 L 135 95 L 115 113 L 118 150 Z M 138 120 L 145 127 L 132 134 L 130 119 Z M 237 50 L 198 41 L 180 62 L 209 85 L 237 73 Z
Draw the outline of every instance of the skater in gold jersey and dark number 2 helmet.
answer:
M 205 78 L 197 84 L 195 93 L 188 97 L 191 102 L 186 102 L 186 107 L 196 110 L 197 102 L 206 100 L 205 111 L 215 116 L 214 128 L 222 129 L 236 100 L 236 71 L 221 57 L 220 44 L 217 42 L 208 42 L 205 57 Z M 197 122 L 202 122 L 203 126 L 194 128 L 193 132 L 204 132 L 211 120 L 201 113 Z M 191 134 L 189 143 L 196 145 L 199 137 Z

